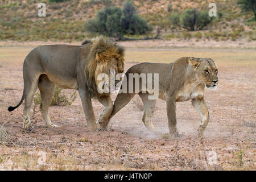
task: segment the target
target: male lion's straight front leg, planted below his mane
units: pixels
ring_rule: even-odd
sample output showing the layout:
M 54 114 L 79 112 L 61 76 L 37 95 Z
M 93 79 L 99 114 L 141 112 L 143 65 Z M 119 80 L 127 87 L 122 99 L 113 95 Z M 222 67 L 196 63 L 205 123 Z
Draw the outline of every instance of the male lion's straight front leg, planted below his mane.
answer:
M 85 90 L 79 88 L 79 94 L 82 101 L 82 107 L 84 109 L 85 119 L 90 131 L 96 131 L 98 129 L 96 125 L 96 119 L 92 106 L 92 99 L 88 96 Z

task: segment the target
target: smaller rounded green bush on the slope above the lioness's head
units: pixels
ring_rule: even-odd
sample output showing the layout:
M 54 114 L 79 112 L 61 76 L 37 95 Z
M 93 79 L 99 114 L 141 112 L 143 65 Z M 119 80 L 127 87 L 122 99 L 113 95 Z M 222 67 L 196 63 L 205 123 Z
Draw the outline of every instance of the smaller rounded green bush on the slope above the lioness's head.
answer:
M 208 11 L 200 13 L 196 9 L 186 9 L 181 18 L 181 27 L 189 30 L 202 30 L 212 22 L 212 17 L 208 15 Z

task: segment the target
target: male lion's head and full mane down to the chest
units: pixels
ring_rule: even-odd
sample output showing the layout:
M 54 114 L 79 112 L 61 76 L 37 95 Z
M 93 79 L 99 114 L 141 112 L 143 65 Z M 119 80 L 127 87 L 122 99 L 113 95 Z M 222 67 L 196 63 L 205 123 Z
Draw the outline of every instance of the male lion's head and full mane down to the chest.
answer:
M 108 82 L 105 84 L 114 86 L 119 80 L 111 81 L 110 78 L 116 77 L 119 73 L 123 73 L 125 66 L 124 49 L 113 43 L 109 39 L 102 36 L 85 40 L 83 44 L 91 43 L 89 61 L 85 67 L 85 78 L 88 81 L 88 91 L 92 97 L 98 96 L 97 86 L 102 80 L 98 79 L 101 73 L 108 75 Z M 120 74 L 119 74 L 120 75 Z M 113 85 L 114 84 L 114 85 Z

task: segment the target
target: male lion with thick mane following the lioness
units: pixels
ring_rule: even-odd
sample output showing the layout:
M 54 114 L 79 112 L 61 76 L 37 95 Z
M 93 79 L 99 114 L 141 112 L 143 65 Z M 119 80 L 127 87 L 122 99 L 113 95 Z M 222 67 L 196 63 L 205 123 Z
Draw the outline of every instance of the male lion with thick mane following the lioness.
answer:
M 105 119 L 108 120 L 113 110 L 113 102 L 110 93 L 98 92 L 97 76 L 100 73 L 110 75 L 110 69 L 114 69 L 115 74 L 122 73 L 124 70 L 123 56 L 124 49 L 121 46 L 101 36 L 85 40 L 82 46 L 39 46 L 28 53 L 24 60 L 22 99 L 18 105 L 10 106 L 8 110 L 13 111 L 25 100 L 23 129 L 31 130 L 30 107 L 36 89 L 39 88 L 43 120 L 47 127 L 57 127 L 52 124 L 48 109 L 55 85 L 59 85 L 61 88 L 79 91 L 89 130 L 99 130 L 91 99 L 95 98 L 105 106 L 99 117 L 100 124 L 104 123 Z

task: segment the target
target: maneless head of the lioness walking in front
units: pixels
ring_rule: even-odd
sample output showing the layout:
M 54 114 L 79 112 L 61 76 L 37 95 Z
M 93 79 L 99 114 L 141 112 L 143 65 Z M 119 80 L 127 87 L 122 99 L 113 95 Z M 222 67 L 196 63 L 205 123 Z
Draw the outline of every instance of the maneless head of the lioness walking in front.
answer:
M 204 83 L 209 89 L 216 89 L 218 85 L 218 67 L 210 58 L 188 57 L 189 64 L 196 73 L 198 81 Z

